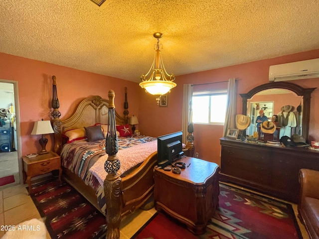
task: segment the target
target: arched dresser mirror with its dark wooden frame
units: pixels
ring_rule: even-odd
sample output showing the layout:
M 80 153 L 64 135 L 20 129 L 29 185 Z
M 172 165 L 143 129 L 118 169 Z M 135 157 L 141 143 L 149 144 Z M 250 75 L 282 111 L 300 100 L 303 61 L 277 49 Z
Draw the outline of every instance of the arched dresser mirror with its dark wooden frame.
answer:
M 311 93 L 315 89 L 316 88 L 303 88 L 289 82 L 271 82 L 255 87 L 247 94 L 240 94 L 243 104 L 242 114 L 251 117 L 252 120 L 246 134 L 251 135 L 251 132 L 255 131 L 256 117 L 262 108 L 266 109 L 266 111 L 268 110 L 268 115 L 277 115 L 281 111 L 281 107 L 285 105 L 293 106 L 294 109 L 292 112 L 296 112 L 300 105 L 301 108 L 298 108 L 302 109 L 300 113 L 300 126 L 298 129 L 295 128 L 293 133 L 300 134 L 307 140 L 309 135 Z M 256 103 L 259 103 L 259 107 Z

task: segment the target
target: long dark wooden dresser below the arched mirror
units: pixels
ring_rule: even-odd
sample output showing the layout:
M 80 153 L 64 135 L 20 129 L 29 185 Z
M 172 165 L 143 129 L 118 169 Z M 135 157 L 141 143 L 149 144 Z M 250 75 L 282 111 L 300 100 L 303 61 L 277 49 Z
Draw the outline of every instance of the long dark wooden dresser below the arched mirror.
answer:
M 220 180 L 298 203 L 301 168 L 319 171 L 319 151 L 268 146 L 223 137 Z

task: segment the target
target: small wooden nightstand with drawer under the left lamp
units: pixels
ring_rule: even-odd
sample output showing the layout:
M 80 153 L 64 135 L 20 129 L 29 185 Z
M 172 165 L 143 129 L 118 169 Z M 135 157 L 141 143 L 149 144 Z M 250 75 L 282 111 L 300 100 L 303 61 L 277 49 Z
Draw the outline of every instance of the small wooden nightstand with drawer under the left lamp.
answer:
M 59 170 L 59 180 L 61 182 L 61 158 L 55 152 L 48 152 L 46 154 L 37 155 L 32 158 L 22 156 L 23 159 L 23 181 L 29 185 L 29 195 L 31 193 L 31 178 L 51 172 L 52 170 Z M 25 180 L 26 176 L 26 180 Z

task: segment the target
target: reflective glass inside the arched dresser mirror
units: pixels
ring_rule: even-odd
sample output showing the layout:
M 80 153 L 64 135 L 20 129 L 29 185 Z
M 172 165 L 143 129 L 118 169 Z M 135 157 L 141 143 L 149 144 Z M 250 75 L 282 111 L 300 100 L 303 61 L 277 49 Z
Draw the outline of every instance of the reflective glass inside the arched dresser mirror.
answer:
M 284 134 L 287 136 L 291 136 L 292 134 L 302 135 L 302 96 L 298 96 L 290 90 L 274 88 L 258 92 L 251 99 L 248 99 L 247 103 L 247 116 L 251 118 L 251 125 L 247 128 L 246 134 L 253 135 L 255 131 L 258 131 L 256 119 L 259 116 L 260 110 L 264 112 L 269 121 L 271 121 L 273 115 L 279 116 L 279 124 L 282 124 L 283 119 L 286 119 L 288 114 L 288 112 L 284 111 L 283 107 L 292 106 L 285 109 L 287 109 L 286 111 L 290 110 L 289 123 L 292 126 L 296 126 L 292 128 L 286 127 L 286 130 L 283 127 L 281 129 L 281 136 Z M 284 118 L 281 116 L 284 116 Z M 284 124 L 287 125 L 288 121 L 284 122 Z

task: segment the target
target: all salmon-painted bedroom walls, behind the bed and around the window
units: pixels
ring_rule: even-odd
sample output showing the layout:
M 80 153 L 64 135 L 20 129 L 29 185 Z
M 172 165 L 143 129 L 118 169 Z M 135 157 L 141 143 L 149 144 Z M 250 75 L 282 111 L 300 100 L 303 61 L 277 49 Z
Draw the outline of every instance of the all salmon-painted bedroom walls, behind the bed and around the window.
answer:
M 57 66 L 40 61 L 0 53 L 0 79 L 18 82 L 22 154 L 39 151 L 38 137 L 30 135 L 35 120 L 50 119 L 52 75 L 57 78 L 61 119 L 71 115 L 82 98 L 100 95 L 107 98 L 113 89 L 116 93 L 117 111 L 123 115 L 124 87 L 128 87 L 130 116 L 138 115 L 136 125 L 142 134 L 160 136 L 181 130 L 183 84 L 202 84 L 237 78 L 237 93 L 247 93 L 252 88 L 268 83 L 269 66 L 319 58 L 319 49 L 255 61 L 204 72 L 176 77 L 177 87 L 168 95 L 168 107 L 159 107 L 156 97 L 145 93 L 137 83 L 94 73 Z M 293 83 L 305 88 L 319 87 L 318 79 L 296 80 Z M 310 140 L 319 140 L 319 89 L 312 93 Z M 242 112 L 241 97 L 237 95 L 237 114 Z M 195 151 L 199 157 L 220 164 L 220 125 L 194 125 Z M 47 149 L 52 149 L 50 135 Z

